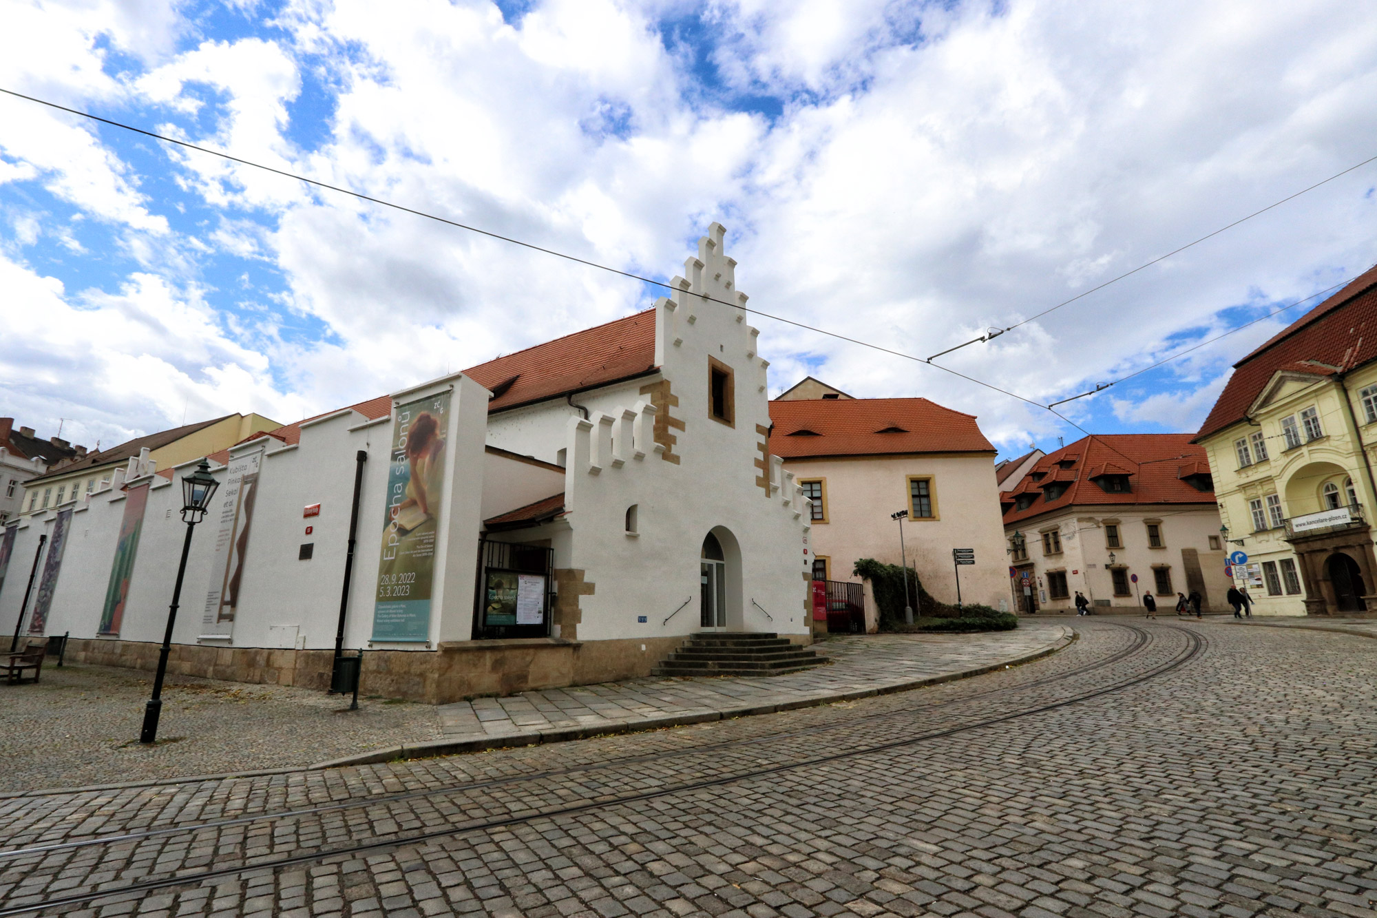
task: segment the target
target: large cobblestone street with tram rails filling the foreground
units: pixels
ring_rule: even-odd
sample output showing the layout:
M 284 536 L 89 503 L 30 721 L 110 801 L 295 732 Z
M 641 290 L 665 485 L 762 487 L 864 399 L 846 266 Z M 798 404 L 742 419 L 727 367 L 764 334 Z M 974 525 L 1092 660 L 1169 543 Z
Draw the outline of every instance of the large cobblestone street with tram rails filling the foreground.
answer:
M 0 801 L 0 915 L 1377 915 L 1377 642 L 1077 627 L 844 704 Z

